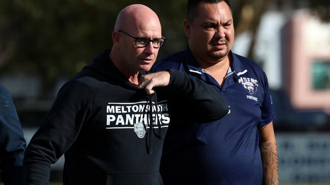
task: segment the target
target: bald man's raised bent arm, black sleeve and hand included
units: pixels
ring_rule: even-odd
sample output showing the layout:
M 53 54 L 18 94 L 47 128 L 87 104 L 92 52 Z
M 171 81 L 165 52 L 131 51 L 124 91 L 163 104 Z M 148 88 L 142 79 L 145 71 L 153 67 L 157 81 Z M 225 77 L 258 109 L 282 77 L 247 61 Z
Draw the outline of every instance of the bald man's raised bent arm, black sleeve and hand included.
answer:
M 215 87 L 185 72 L 171 69 L 144 75 L 138 87 L 146 88 L 150 94 L 153 87 L 164 86 L 167 98 L 188 102 L 188 108 L 196 113 L 194 116 L 199 122 L 214 121 L 228 113 L 228 105 Z

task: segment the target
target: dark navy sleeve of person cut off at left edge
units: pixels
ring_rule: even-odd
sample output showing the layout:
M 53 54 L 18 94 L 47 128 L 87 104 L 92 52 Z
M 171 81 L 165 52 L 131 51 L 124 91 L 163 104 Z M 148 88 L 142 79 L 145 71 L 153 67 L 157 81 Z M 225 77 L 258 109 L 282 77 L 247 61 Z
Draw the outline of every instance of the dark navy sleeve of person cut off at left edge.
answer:
M 25 146 L 11 94 L 0 86 L 0 169 L 5 184 L 23 184 Z

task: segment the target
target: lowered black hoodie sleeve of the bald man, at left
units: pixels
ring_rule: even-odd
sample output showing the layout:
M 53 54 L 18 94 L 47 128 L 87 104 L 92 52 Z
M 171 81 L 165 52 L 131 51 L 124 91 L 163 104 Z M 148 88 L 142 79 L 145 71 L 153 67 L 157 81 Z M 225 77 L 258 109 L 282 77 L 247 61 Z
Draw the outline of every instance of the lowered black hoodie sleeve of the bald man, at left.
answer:
M 76 140 L 92 112 L 94 90 L 79 81 L 65 84 L 24 155 L 24 184 L 49 184 L 54 164 Z

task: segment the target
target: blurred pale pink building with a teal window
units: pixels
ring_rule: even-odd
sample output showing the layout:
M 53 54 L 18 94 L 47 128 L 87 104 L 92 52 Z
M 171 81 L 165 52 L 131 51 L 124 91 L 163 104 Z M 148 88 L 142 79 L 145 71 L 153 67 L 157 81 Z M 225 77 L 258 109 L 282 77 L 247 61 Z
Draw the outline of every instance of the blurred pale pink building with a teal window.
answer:
M 293 106 L 330 114 L 330 22 L 300 11 L 284 28 L 283 84 Z

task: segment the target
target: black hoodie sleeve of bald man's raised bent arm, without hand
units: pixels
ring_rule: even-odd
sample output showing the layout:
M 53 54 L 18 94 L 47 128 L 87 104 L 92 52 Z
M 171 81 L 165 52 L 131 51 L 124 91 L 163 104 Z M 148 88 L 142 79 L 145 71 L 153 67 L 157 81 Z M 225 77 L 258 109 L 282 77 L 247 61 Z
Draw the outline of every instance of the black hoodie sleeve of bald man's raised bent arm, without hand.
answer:
M 168 94 L 175 97 L 173 104 L 185 104 L 197 122 L 210 122 L 225 116 L 229 109 L 218 90 L 211 84 L 189 77 L 187 73 L 171 69 Z

